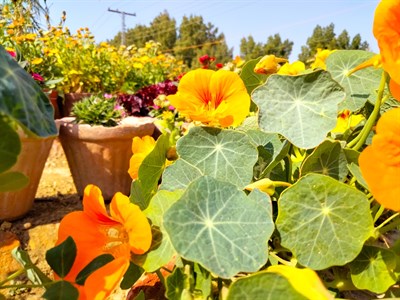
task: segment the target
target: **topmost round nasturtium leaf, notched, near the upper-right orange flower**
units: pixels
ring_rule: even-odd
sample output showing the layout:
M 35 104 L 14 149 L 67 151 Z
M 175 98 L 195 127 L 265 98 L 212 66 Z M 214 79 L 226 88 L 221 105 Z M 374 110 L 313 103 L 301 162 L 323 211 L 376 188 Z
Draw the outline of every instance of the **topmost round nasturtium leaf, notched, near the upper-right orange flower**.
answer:
M 350 76 L 347 75 L 349 71 L 374 55 L 363 50 L 337 50 L 326 59 L 326 69 L 346 92 L 346 100 L 340 103 L 340 110 L 356 111 L 362 108 L 367 100 L 375 103 L 382 69 L 368 67 Z

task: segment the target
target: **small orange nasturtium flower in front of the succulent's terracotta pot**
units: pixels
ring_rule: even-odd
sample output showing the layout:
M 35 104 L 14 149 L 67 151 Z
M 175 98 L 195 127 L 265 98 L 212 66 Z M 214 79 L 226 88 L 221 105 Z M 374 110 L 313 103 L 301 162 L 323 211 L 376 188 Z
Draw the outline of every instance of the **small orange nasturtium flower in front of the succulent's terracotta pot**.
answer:
M 135 136 L 132 141 L 133 155 L 129 161 L 128 173 L 132 179 L 137 179 L 139 176 L 139 167 L 145 157 L 153 151 L 156 141 L 149 135 L 144 137 Z

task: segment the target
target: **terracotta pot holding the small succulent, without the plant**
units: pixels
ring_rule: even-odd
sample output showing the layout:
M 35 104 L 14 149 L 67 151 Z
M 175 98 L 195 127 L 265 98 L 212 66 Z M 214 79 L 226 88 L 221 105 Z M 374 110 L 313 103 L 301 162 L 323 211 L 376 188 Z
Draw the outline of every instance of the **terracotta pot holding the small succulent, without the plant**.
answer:
M 128 117 L 116 127 L 75 124 L 74 118 L 57 120 L 60 141 L 80 196 L 88 184 L 97 185 L 104 199 L 116 192 L 129 195 L 132 179 L 128 174 L 132 139 L 152 135 L 153 118 Z

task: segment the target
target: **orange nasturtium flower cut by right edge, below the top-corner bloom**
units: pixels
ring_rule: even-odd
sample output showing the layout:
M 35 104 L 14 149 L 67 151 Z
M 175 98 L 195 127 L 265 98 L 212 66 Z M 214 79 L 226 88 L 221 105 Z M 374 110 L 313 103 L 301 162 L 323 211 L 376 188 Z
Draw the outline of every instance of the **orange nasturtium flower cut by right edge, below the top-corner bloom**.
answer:
M 379 119 L 372 144 L 361 152 L 359 163 L 376 201 L 400 211 L 400 108 Z

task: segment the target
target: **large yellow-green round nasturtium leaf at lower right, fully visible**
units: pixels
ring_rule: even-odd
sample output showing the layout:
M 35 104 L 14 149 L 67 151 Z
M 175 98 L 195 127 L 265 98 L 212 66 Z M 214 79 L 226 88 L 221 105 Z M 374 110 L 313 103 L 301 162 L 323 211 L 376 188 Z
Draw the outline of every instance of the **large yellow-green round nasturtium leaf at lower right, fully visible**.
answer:
M 278 200 L 281 243 L 314 270 L 344 265 L 357 257 L 373 234 L 368 198 L 320 174 L 308 174 Z

